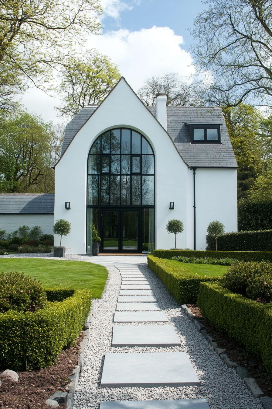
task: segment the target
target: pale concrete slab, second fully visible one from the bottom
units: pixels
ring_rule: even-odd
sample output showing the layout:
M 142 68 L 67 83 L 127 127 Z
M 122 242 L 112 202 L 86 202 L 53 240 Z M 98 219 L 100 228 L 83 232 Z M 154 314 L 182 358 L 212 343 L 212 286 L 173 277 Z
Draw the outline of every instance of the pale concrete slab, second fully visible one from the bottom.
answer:
M 180 346 L 172 325 L 115 325 L 112 346 Z

